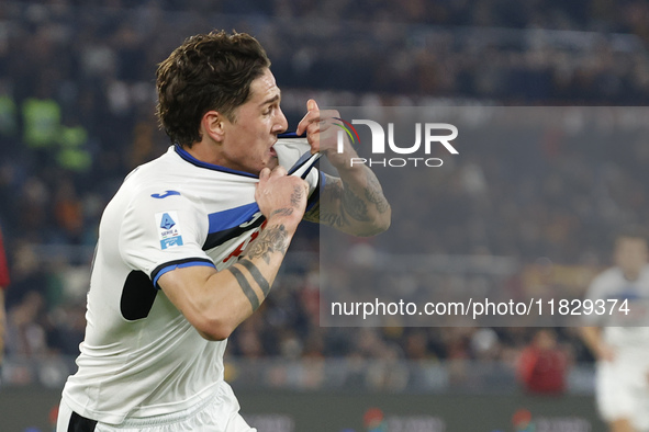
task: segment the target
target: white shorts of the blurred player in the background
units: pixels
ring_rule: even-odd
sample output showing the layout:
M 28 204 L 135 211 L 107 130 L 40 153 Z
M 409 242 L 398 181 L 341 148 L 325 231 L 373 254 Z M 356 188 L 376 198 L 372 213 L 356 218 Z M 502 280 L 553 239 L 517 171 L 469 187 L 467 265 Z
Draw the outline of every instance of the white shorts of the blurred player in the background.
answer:
M 649 362 L 616 359 L 597 363 L 597 408 L 606 421 L 628 419 L 649 431 Z

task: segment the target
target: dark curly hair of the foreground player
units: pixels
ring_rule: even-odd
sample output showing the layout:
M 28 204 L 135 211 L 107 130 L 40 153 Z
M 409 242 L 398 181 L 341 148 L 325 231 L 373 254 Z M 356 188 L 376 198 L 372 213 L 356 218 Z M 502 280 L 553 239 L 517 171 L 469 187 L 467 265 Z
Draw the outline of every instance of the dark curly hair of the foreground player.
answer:
M 184 41 L 158 65 L 157 115 L 171 143 L 201 140 L 200 122 L 211 110 L 235 122 L 250 83 L 270 67 L 261 45 L 245 33 L 211 32 Z

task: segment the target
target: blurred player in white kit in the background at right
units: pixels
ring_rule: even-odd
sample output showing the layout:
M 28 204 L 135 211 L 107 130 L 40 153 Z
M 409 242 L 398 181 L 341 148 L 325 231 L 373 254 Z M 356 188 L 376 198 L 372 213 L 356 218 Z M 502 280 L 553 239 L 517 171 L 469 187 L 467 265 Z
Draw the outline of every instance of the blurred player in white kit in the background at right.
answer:
M 647 240 L 630 229 L 616 238 L 615 266 L 592 282 L 591 300 L 617 299 L 609 314 L 585 317 L 582 338 L 597 361 L 596 400 L 612 432 L 649 431 L 649 265 Z M 627 303 L 624 303 L 624 302 Z M 628 312 L 622 309 L 628 307 Z

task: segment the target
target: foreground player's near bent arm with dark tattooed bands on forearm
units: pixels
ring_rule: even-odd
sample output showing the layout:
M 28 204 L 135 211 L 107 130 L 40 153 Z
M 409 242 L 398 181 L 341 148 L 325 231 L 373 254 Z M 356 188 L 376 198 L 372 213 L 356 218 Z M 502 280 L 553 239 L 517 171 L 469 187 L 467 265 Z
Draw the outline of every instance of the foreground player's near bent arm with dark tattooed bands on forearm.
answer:
M 203 338 L 226 339 L 261 305 L 304 215 L 307 190 L 281 167 L 264 170 L 255 197 L 267 224 L 239 261 L 220 272 L 189 266 L 160 276 L 167 297 Z

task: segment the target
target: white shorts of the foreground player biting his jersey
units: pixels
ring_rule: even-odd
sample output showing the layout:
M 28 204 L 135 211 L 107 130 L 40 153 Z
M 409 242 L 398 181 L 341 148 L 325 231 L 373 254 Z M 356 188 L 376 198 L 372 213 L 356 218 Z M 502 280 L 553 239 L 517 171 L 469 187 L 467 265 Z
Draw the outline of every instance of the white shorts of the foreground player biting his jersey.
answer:
M 58 432 L 257 432 L 237 411 L 224 416 L 217 393 L 194 407 L 170 414 L 126 419 L 121 424 L 108 424 L 80 417 L 61 400 L 58 409 Z

